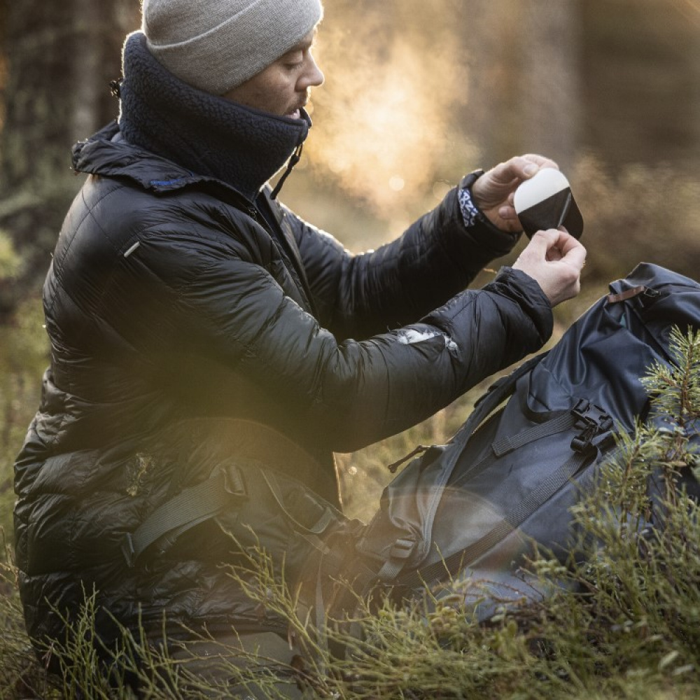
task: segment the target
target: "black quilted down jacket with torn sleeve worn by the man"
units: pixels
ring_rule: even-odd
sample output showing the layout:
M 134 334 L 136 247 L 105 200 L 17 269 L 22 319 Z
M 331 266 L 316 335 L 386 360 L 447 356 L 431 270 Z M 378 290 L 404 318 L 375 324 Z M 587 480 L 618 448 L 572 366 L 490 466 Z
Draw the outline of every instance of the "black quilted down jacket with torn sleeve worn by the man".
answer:
M 163 437 L 179 421 L 271 426 L 316 458 L 302 477 L 337 500 L 332 451 L 425 419 L 551 332 L 521 272 L 463 290 L 515 237 L 465 229 L 456 190 L 396 241 L 351 255 L 276 202 L 255 209 L 127 144 L 116 125 L 78 144 L 74 166 L 90 176 L 45 281 L 51 363 L 15 467 L 34 638 L 60 635 L 52 606 L 74 615 L 93 590 L 105 636 L 111 616 L 136 626 L 139 611 L 159 631 L 164 613 L 210 629 L 265 623 L 221 570 L 231 545 L 211 521 L 125 564 L 123 535 L 207 476 L 205 456 Z

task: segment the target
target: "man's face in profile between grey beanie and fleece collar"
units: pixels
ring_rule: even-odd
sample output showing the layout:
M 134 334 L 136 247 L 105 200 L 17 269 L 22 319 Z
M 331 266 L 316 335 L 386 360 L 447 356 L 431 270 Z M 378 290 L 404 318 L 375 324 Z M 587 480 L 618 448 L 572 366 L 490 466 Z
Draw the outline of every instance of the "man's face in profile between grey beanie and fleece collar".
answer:
M 315 36 L 315 29 L 309 31 L 273 64 L 223 97 L 277 116 L 298 119 L 299 110 L 309 100 L 311 87 L 323 84 L 323 73 L 311 54 Z

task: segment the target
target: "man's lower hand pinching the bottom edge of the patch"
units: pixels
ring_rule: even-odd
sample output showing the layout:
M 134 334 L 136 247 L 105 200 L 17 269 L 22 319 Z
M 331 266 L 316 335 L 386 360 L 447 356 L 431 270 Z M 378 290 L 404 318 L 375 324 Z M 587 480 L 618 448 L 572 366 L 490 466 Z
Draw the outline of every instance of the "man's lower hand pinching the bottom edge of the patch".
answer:
M 579 293 L 584 262 L 586 248 L 568 233 L 552 228 L 535 233 L 513 269 L 530 275 L 555 307 Z

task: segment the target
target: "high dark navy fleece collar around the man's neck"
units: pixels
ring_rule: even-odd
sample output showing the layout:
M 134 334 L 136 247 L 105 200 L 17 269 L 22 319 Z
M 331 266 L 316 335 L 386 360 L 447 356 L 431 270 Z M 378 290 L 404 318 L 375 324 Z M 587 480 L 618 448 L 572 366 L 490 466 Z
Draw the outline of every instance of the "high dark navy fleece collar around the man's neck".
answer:
M 297 120 L 279 117 L 190 87 L 153 58 L 139 31 L 125 43 L 120 97 L 124 138 L 169 161 L 176 176 L 163 183 L 182 186 L 196 174 L 227 183 L 249 202 L 311 126 L 304 111 Z

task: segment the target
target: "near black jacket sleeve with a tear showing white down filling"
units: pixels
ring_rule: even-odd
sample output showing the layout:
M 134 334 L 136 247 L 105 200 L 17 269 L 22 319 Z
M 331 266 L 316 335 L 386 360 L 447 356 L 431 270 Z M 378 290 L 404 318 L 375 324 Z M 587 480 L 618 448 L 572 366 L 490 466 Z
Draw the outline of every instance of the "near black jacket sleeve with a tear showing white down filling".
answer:
M 172 248 L 172 237 L 151 238 L 129 258 L 150 269 L 154 286 L 167 284 L 173 300 L 152 321 L 127 319 L 130 342 L 155 357 L 177 348 L 184 359 L 169 375 L 174 384 L 193 365 L 244 377 L 287 430 L 332 451 L 359 449 L 426 419 L 538 349 L 552 331 L 538 284 L 510 268 L 418 323 L 357 341 L 323 328 L 244 255 Z M 154 287 L 155 296 L 162 293 Z M 237 395 L 247 400 L 243 389 Z

